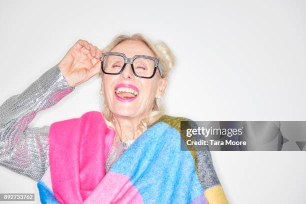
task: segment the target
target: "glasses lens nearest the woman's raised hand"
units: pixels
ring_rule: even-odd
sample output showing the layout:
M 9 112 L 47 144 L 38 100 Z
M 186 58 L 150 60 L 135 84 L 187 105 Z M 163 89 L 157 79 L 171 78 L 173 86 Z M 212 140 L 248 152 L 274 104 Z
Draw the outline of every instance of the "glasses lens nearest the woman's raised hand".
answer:
M 105 55 L 103 59 L 103 70 L 107 73 L 120 72 L 124 64 L 124 58 L 118 55 Z

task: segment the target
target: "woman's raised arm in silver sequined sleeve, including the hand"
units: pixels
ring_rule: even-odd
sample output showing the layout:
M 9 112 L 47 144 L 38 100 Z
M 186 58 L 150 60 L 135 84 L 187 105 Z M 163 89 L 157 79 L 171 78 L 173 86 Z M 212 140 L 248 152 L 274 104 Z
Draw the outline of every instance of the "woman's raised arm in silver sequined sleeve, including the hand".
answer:
M 0 165 L 39 180 L 49 165 L 49 126 L 29 127 L 40 110 L 99 73 L 101 51 L 79 39 L 65 56 L 22 93 L 0 106 Z

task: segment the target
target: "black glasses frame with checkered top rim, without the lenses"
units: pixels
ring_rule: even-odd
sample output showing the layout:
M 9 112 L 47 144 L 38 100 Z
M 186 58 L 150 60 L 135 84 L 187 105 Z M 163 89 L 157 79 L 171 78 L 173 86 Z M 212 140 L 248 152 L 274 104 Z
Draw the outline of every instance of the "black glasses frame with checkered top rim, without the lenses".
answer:
M 122 56 L 124 58 L 124 64 L 123 64 L 121 70 L 118 73 L 109 73 L 109 72 L 105 72 L 104 71 L 104 69 L 103 69 L 103 60 L 104 60 L 104 56 L 106 56 L 106 55 L 118 55 L 118 56 Z M 136 74 L 136 72 L 134 70 L 134 67 L 133 67 L 133 61 L 136 58 L 147 58 L 147 59 L 154 60 L 154 71 L 153 71 L 153 74 L 151 76 L 139 76 L 139 75 Z M 131 65 L 133 74 L 135 76 L 137 76 L 137 77 L 140 77 L 140 78 L 152 78 L 155 75 L 155 72 L 156 72 L 157 68 L 158 68 L 160 76 L 163 77 L 161 63 L 160 63 L 159 59 L 157 59 L 155 57 L 137 54 L 137 55 L 135 55 L 135 56 L 133 56 L 131 58 L 127 58 L 124 53 L 120 53 L 120 52 L 104 52 L 104 53 L 101 54 L 101 69 L 102 69 L 103 73 L 106 73 L 106 74 L 120 74 L 123 71 L 123 69 L 124 69 L 124 67 L 125 67 L 125 65 L 127 63 L 129 63 Z

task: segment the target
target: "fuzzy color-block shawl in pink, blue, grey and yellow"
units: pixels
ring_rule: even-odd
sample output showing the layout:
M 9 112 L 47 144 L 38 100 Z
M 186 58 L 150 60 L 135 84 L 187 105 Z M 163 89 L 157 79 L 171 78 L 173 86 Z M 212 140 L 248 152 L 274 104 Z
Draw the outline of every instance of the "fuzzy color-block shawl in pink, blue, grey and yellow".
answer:
M 105 174 L 114 130 L 103 115 L 54 122 L 49 130 L 52 189 L 38 181 L 42 203 L 228 203 L 210 153 L 181 151 L 180 120 L 163 115 Z

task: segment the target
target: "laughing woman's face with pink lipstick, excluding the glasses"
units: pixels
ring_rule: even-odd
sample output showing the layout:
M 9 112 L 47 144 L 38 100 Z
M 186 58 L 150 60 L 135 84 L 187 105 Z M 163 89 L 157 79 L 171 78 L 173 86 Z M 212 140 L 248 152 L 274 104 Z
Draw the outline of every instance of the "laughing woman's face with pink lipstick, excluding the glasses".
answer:
M 125 40 L 117 44 L 111 51 L 121 52 L 126 57 L 142 54 L 155 57 L 152 50 L 142 41 Z M 115 116 L 142 117 L 147 115 L 153 107 L 155 97 L 162 95 L 167 84 L 167 78 L 161 78 L 156 70 L 152 78 L 140 78 L 133 74 L 131 65 L 126 64 L 120 74 L 102 73 L 102 92 L 105 102 Z M 122 87 L 129 87 L 125 92 Z M 117 89 L 120 88 L 121 89 Z M 118 93 L 118 90 L 123 90 Z M 135 93 L 135 92 L 134 92 Z

